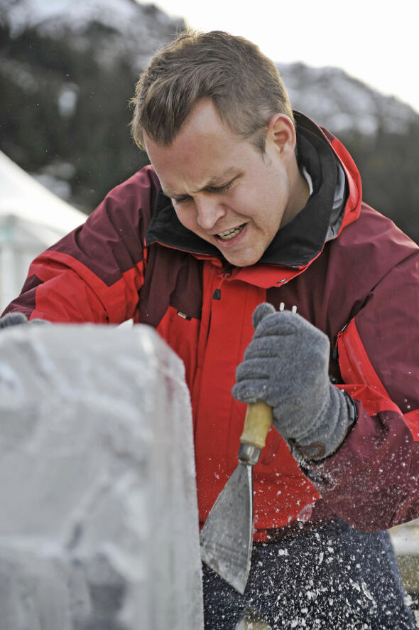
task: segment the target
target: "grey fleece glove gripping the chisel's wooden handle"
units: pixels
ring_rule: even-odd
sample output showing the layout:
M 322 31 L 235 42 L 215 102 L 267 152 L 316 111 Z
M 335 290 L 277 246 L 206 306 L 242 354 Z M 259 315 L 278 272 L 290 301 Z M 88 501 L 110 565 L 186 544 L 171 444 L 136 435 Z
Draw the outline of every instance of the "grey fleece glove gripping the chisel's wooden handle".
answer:
M 234 398 L 272 407 L 273 425 L 298 461 L 334 453 L 354 422 L 354 405 L 330 383 L 329 339 L 300 315 L 271 304 L 257 306 L 253 325 Z

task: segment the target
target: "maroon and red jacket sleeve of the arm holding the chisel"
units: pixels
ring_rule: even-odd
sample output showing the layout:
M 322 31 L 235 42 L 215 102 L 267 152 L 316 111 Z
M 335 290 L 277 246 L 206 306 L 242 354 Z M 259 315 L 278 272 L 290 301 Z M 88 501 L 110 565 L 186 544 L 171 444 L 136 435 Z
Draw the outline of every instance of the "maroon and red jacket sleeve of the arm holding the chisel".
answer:
M 419 516 L 419 250 L 371 289 L 338 338 L 358 418 L 331 457 L 304 469 L 354 528 L 379 531 Z

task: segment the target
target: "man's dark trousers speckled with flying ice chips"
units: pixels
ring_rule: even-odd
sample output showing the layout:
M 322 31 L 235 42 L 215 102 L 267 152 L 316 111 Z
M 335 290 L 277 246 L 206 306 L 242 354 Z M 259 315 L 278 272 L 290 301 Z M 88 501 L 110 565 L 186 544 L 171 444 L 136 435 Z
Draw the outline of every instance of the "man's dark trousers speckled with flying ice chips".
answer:
M 206 630 L 234 630 L 245 610 L 276 629 L 413 630 L 388 533 L 342 520 L 255 543 L 244 595 L 203 565 Z

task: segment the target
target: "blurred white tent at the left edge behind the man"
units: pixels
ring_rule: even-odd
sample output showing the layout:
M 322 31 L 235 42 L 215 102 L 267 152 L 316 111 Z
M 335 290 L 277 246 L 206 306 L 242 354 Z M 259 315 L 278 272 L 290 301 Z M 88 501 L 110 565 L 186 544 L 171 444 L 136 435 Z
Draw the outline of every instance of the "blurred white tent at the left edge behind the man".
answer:
M 0 312 L 21 291 L 33 258 L 85 219 L 0 151 Z

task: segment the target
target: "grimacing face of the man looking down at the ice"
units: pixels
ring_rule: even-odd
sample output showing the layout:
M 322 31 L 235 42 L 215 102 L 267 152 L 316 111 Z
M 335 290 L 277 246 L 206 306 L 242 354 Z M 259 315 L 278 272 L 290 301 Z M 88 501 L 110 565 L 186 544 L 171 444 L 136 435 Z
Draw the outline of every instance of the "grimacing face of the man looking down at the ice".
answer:
M 222 122 L 209 99 L 197 102 L 169 146 L 146 137 L 151 164 L 180 223 L 237 267 L 254 265 L 293 212 L 290 152 L 278 138 L 268 131 L 262 155 Z

